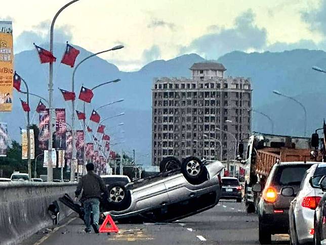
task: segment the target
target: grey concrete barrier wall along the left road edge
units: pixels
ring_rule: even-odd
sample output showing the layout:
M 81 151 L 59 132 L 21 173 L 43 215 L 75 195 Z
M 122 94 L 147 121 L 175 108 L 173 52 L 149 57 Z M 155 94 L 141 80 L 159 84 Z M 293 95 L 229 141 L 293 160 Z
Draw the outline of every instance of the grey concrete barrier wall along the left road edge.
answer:
M 64 193 L 73 196 L 76 183 L 8 182 L 0 184 L 0 244 L 18 244 L 53 221 L 49 205 Z M 71 209 L 58 201 L 60 220 Z

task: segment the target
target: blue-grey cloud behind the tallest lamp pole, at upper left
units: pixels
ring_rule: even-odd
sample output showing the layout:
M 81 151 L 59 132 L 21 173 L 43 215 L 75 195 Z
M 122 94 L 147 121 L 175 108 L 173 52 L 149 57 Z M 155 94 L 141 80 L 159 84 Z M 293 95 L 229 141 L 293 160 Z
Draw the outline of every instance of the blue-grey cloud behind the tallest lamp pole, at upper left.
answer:
M 19 53 L 24 50 L 32 49 L 33 43 L 36 45 L 49 44 L 50 42 L 50 20 L 42 21 L 33 26 L 33 30 L 23 31 L 15 38 L 14 50 Z M 54 29 L 54 42 L 65 43 L 72 39 L 71 26 L 62 25 Z M 49 47 L 44 47 L 48 49 Z

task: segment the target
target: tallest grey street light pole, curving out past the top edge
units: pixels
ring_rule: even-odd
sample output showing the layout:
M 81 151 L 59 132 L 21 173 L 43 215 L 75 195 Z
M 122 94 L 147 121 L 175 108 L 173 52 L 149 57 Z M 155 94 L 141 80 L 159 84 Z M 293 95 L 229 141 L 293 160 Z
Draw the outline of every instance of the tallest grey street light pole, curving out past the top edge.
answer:
M 54 23 L 57 19 L 57 17 L 59 16 L 59 14 L 68 6 L 70 6 L 71 4 L 77 2 L 79 0 L 73 0 L 71 2 L 69 2 L 68 4 L 66 4 L 65 6 L 63 6 L 54 16 L 52 23 L 51 23 L 51 28 L 50 28 L 50 52 L 53 54 L 53 32 L 54 32 Z M 48 182 L 52 182 L 53 181 L 53 169 L 52 169 L 52 133 L 53 133 L 53 129 L 52 129 L 52 111 L 53 111 L 53 63 L 50 62 L 50 66 L 49 66 L 49 134 L 50 134 L 50 138 L 49 138 L 49 154 L 48 154 Z M 74 113 L 72 113 L 74 114 Z M 72 164 L 71 164 L 72 165 Z

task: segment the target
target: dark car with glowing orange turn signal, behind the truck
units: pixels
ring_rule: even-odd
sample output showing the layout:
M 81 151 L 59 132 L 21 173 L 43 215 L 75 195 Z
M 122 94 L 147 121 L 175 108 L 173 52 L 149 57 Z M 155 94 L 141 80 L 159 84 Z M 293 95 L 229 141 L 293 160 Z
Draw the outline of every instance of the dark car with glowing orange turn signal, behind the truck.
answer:
M 314 163 L 283 162 L 274 164 L 258 204 L 259 242 L 261 244 L 270 244 L 272 234 L 289 233 L 290 203 L 299 190 L 305 172 Z M 261 189 L 260 184 L 253 186 L 254 192 L 261 192 Z

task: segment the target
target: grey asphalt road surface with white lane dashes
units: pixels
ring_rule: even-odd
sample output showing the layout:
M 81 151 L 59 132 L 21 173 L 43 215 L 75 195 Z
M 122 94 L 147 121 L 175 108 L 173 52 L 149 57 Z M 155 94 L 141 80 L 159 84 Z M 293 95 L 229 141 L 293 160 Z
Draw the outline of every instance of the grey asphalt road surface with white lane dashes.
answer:
M 259 244 L 258 218 L 243 203 L 223 201 L 214 208 L 169 224 L 117 224 L 119 233 L 86 234 L 83 222 L 69 217 L 52 231 L 40 231 L 22 244 Z M 288 235 L 272 236 L 272 244 L 289 244 Z

